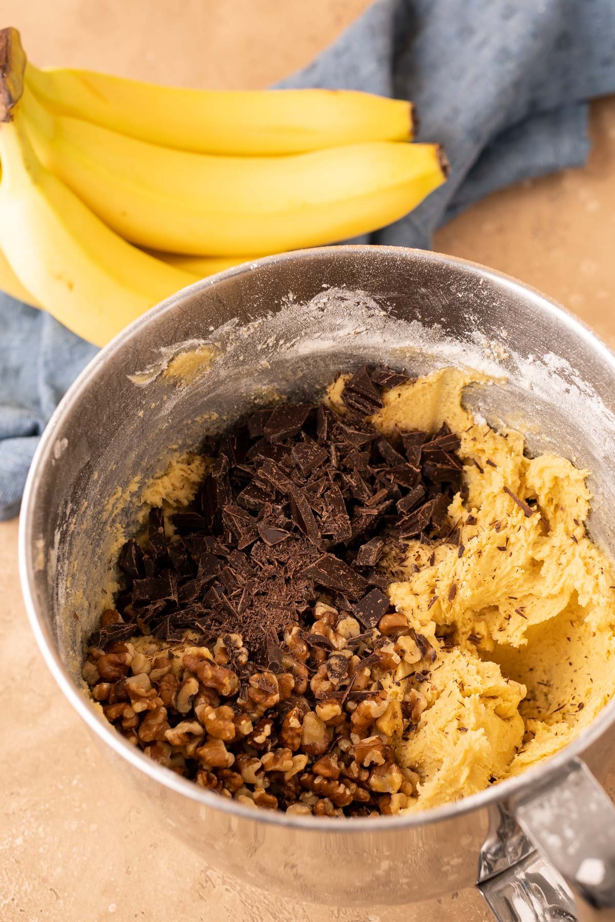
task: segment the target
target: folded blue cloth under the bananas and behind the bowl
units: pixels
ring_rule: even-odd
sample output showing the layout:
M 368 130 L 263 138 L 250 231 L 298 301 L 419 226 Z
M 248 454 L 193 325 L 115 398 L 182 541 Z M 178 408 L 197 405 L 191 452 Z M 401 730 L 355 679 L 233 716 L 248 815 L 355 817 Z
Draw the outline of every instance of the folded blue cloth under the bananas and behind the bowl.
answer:
M 484 195 L 585 162 L 586 100 L 615 92 L 615 3 L 377 0 L 279 86 L 416 102 L 419 139 L 444 144 L 448 182 L 356 242 L 429 248 L 439 225 Z M 6 295 L 0 324 L 0 518 L 9 518 L 41 431 L 96 349 Z

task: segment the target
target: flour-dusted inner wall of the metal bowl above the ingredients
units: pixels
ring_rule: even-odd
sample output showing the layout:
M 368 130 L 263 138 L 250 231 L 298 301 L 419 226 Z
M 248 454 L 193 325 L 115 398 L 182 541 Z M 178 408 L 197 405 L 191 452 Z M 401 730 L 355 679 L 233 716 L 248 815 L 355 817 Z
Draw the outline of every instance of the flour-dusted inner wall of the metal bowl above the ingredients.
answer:
M 259 260 L 130 327 L 90 364 L 43 437 L 25 510 L 26 568 L 77 683 L 83 639 L 116 579 L 113 556 L 170 456 L 278 396 L 313 397 L 337 369 L 364 361 L 500 378 L 471 388 L 469 404 L 524 431 L 532 453 L 588 468 L 592 535 L 614 546 L 615 361 L 582 325 L 512 279 L 435 254 L 334 247 Z

